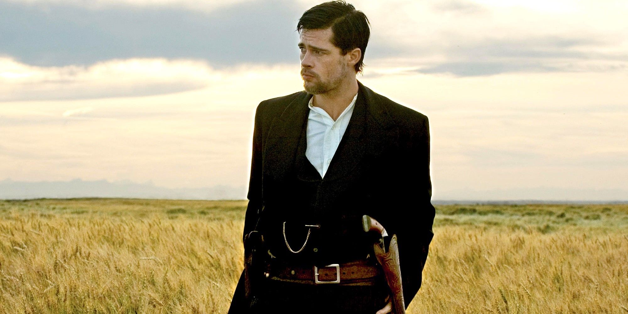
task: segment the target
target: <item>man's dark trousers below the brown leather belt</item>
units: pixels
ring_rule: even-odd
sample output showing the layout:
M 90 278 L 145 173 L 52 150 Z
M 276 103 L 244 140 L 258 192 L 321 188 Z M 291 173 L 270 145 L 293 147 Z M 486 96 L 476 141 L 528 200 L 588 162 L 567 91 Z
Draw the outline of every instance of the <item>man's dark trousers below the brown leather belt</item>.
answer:
M 266 279 L 252 306 L 253 313 L 375 314 L 386 305 L 386 282 L 371 286 L 301 284 Z

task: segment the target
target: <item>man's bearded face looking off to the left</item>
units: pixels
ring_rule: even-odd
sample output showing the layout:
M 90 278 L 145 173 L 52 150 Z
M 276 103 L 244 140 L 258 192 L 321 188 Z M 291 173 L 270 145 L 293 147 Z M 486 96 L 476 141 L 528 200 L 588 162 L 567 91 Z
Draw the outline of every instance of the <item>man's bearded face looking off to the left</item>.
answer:
M 347 55 L 332 43 L 332 29 L 302 30 L 299 41 L 301 49 L 301 77 L 303 88 L 310 94 L 325 94 L 342 85 L 342 81 L 355 77 L 353 66 L 349 67 Z

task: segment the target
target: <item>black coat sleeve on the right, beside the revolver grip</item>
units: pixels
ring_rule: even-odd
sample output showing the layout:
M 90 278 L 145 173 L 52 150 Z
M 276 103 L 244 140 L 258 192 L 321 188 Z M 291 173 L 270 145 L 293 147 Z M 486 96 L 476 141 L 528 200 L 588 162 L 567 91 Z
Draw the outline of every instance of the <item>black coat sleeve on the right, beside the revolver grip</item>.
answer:
M 430 130 L 427 117 L 414 126 L 397 178 L 401 185 L 396 233 L 399 241 L 401 282 L 406 308 L 421 287 L 421 274 L 433 237 L 435 209 L 431 205 Z

